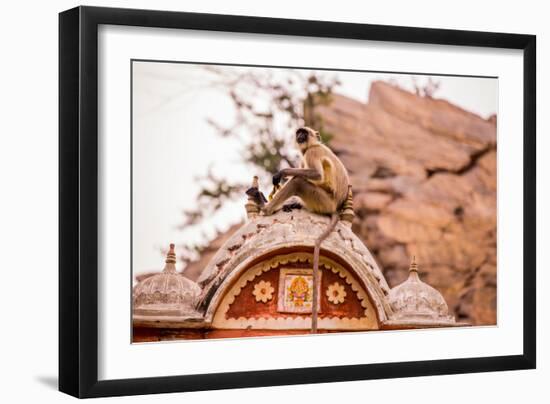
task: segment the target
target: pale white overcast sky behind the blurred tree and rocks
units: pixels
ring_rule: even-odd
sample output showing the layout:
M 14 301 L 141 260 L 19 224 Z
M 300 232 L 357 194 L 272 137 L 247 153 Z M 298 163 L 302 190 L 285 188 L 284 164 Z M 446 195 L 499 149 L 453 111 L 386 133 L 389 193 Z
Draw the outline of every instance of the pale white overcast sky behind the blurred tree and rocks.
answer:
M 248 70 L 259 68 L 223 67 Z M 285 75 L 287 70 L 277 69 Z M 304 71 L 307 74 L 308 71 Z M 337 92 L 368 102 L 370 84 L 392 81 L 412 90 L 411 75 L 323 72 L 341 82 Z M 437 77 L 435 98 L 486 118 L 497 112 L 498 81 L 485 78 Z M 426 83 L 426 76 L 414 78 Z M 200 187 L 196 178 L 209 168 L 234 182 L 255 174 L 241 162 L 241 143 L 221 138 L 208 118 L 230 124 L 234 109 L 223 88 L 212 86 L 214 76 L 198 65 L 134 62 L 133 65 L 133 252 L 134 273 L 160 270 L 161 248 L 171 242 L 197 242 L 245 218 L 246 198 L 228 203 L 196 229 L 178 228 L 182 211 L 195 206 Z M 289 133 L 292 136 L 292 133 Z M 265 184 L 264 186 L 268 186 Z M 178 269 L 181 264 L 178 263 Z

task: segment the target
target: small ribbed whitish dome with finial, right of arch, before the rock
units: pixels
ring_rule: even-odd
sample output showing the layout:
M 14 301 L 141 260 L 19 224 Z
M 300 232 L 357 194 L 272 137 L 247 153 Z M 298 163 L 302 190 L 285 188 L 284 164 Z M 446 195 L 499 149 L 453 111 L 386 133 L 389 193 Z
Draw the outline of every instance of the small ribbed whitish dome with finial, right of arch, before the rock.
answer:
M 420 280 L 414 256 L 409 278 L 391 289 L 388 299 L 395 320 L 455 322 L 454 316 L 449 315 L 449 308 L 441 293 Z

